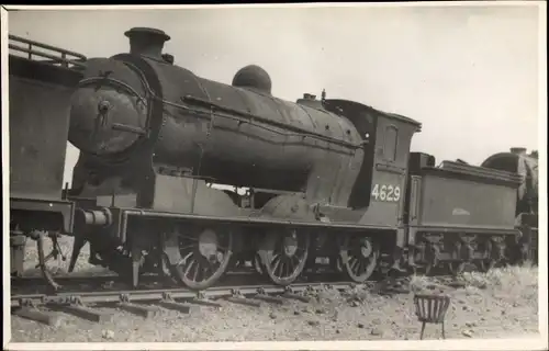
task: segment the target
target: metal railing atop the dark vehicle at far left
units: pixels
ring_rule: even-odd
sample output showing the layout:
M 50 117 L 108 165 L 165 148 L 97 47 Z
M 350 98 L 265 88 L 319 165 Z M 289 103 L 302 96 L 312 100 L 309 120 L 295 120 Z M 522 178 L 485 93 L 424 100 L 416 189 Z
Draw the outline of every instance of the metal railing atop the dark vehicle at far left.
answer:
M 65 68 L 83 68 L 85 61 L 87 60 L 87 57 L 81 54 L 26 39 L 16 35 L 10 34 L 9 39 L 9 48 L 11 50 L 10 54 L 19 57 L 23 56 L 30 60 Z M 53 53 L 46 53 L 44 50 L 51 50 Z M 37 57 L 45 59 L 37 59 Z

